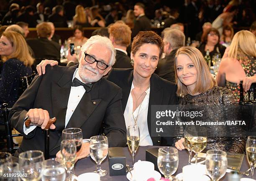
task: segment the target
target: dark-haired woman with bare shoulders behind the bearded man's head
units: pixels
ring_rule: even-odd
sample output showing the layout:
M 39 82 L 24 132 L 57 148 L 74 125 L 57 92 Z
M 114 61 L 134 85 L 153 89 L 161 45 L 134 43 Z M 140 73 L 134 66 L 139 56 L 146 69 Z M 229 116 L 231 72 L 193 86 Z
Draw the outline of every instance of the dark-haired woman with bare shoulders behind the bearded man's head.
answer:
M 68 43 L 74 43 L 75 48 L 81 48 L 84 43 L 88 40 L 88 38 L 84 37 L 83 27 L 81 25 L 75 25 L 74 29 L 74 36 L 68 39 Z

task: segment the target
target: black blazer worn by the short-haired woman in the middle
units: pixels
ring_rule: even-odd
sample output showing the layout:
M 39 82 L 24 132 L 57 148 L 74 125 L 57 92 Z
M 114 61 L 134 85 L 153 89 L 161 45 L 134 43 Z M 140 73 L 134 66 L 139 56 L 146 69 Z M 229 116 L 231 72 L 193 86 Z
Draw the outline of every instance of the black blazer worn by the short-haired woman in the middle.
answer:
M 133 69 L 112 69 L 107 77 L 123 90 L 122 107 L 125 110 L 133 82 Z M 151 105 L 177 105 L 177 86 L 172 82 L 152 74 L 148 102 L 148 131 L 151 135 Z M 153 145 L 173 145 L 172 137 L 152 137 Z

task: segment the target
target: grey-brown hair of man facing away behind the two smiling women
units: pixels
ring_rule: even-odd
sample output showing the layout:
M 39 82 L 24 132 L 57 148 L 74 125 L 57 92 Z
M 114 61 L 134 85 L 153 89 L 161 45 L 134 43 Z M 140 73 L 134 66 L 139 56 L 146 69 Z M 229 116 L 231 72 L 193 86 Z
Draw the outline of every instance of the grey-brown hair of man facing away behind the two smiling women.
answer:
M 182 31 L 172 29 L 164 32 L 164 41 L 169 42 L 172 49 L 185 46 L 185 35 Z

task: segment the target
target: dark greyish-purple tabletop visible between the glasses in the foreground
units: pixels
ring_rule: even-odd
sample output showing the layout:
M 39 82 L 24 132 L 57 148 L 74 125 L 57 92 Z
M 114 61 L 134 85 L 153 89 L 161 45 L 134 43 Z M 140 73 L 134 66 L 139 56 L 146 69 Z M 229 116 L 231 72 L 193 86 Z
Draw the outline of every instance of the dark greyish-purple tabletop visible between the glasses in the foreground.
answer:
M 146 150 L 149 148 L 158 148 L 158 146 L 139 146 L 136 152 L 135 162 L 138 160 L 146 161 Z M 132 157 L 128 147 L 124 147 L 122 149 L 126 157 L 126 164 L 131 166 Z M 182 173 L 182 168 L 188 165 L 187 150 L 178 151 L 178 153 L 179 153 L 179 166 L 177 171 L 174 173 L 174 176 L 179 173 Z M 102 162 L 101 168 L 104 170 L 107 170 L 108 174 L 106 176 L 101 177 L 100 181 L 128 181 L 128 179 L 126 178 L 126 175 L 122 175 L 122 176 L 109 175 L 108 157 L 105 158 L 105 160 Z M 249 164 L 247 162 L 246 156 L 244 156 L 240 171 L 246 171 L 248 168 L 249 168 Z M 74 172 L 77 176 L 79 176 L 82 173 L 93 172 L 95 170 L 96 170 L 96 163 L 95 161 L 92 160 L 92 158 L 90 158 L 90 156 L 77 161 L 74 168 Z M 228 176 L 230 174 L 231 173 L 226 173 L 225 176 L 223 176 L 223 178 L 220 179 L 220 181 L 228 181 Z M 242 175 L 242 178 L 243 177 L 250 178 L 250 176 L 245 176 L 245 175 Z M 256 174 L 254 174 L 253 178 L 256 179 Z

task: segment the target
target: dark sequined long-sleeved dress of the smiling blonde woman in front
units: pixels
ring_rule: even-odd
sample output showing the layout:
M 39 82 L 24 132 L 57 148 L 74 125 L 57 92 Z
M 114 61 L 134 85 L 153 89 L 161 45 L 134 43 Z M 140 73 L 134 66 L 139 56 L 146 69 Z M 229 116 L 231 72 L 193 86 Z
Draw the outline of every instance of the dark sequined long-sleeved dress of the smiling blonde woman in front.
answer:
M 211 121 L 213 122 L 220 121 L 220 119 L 237 119 L 237 117 L 234 117 L 234 110 L 237 110 L 238 102 L 236 102 L 236 98 L 234 97 L 232 92 L 223 87 L 213 87 L 212 89 L 209 89 L 207 92 L 195 96 L 187 94 L 183 97 L 179 97 L 179 105 L 195 107 L 217 107 L 218 110 L 215 111 L 212 111 L 211 109 L 207 110 L 207 117 L 210 117 Z M 217 131 L 218 133 L 225 133 L 227 127 L 207 126 L 208 132 L 209 129 L 212 132 Z M 246 138 L 235 136 L 237 130 L 230 130 L 230 132 L 231 135 L 234 135 L 233 137 L 207 137 L 208 140 L 205 150 L 217 149 L 236 153 L 244 153 Z M 176 141 L 177 140 L 175 140 L 175 142 Z

